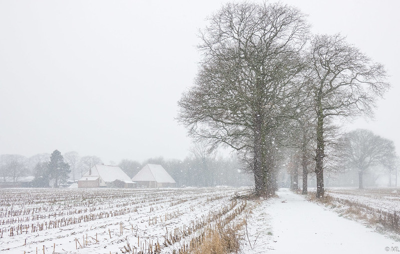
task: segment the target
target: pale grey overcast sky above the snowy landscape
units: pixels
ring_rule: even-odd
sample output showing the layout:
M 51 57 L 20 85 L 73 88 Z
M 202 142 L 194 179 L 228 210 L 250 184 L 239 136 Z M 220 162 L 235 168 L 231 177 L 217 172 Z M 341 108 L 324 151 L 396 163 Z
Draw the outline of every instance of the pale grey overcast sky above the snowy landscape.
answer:
M 174 118 L 193 83 L 197 31 L 227 1 L 0 1 L 0 154 L 183 159 Z M 312 32 L 341 33 L 383 63 L 392 89 L 367 128 L 400 151 L 397 1 L 282 1 Z

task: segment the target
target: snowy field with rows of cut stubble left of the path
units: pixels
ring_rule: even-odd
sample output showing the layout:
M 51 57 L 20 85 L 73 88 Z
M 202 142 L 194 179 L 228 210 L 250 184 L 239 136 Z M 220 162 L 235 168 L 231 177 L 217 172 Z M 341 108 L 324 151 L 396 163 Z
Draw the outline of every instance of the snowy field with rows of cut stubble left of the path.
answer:
M 0 189 L 2 253 L 172 253 L 218 219 L 235 219 L 248 189 Z

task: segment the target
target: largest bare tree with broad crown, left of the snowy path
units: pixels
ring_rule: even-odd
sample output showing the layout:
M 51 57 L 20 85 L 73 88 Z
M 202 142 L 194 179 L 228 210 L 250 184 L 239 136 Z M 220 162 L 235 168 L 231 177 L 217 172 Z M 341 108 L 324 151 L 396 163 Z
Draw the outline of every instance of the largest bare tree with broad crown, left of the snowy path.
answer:
M 255 194 L 274 194 L 273 144 L 304 67 L 305 16 L 281 4 L 226 4 L 201 31 L 203 63 L 178 102 L 189 133 L 245 154 Z

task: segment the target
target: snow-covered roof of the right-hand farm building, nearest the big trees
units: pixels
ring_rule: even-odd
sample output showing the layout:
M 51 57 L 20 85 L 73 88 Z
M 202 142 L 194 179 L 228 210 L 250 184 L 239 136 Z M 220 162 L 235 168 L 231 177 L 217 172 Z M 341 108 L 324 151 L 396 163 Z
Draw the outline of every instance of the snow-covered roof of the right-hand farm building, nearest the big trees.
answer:
M 156 181 L 164 183 L 176 183 L 161 165 L 146 164 L 133 178 L 132 181 Z

